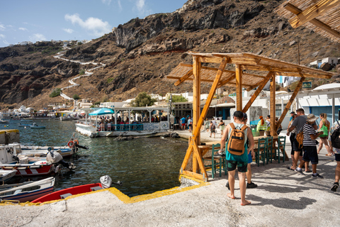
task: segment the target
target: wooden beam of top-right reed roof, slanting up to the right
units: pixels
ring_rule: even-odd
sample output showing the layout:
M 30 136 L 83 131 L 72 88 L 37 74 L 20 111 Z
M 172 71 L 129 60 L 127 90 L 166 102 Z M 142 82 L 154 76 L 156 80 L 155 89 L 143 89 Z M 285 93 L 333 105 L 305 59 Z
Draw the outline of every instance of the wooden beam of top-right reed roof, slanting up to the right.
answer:
M 307 7 L 304 11 L 297 13 L 297 15 L 289 20 L 293 28 L 298 28 L 305 23 L 312 21 L 317 16 L 322 16 L 329 9 L 340 4 L 340 0 L 321 0 L 316 4 Z

